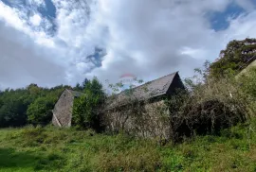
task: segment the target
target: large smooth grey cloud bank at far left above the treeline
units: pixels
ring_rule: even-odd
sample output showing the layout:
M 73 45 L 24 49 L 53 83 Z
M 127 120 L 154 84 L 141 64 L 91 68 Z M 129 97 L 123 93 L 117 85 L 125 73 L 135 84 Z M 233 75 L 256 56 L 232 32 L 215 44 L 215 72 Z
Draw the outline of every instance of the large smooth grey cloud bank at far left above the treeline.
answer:
M 44 52 L 27 36 L 21 35 L 21 32 L 0 22 L 1 87 L 13 88 L 30 83 L 53 86 L 66 82 L 64 66 L 45 58 L 55 54 Z

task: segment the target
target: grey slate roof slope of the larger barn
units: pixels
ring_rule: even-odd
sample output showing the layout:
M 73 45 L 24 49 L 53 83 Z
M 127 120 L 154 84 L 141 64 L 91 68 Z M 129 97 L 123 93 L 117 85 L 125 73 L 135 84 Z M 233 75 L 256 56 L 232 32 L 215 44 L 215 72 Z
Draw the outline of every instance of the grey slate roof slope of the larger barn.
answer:
M 119 95 L 114 95 L 115 101 L 111 102 L 113 97 L 112 99 L 108 99 L 107 109 L 125 105 L 130 102 L 130 100 L 140 101 L 160 95 L 166 95 L 176 75 L 178 75 L 178 72 L 174 72 L 173 74 L 169 74 L 164 77 L 159 77 L 131 90 L 122 91 Z

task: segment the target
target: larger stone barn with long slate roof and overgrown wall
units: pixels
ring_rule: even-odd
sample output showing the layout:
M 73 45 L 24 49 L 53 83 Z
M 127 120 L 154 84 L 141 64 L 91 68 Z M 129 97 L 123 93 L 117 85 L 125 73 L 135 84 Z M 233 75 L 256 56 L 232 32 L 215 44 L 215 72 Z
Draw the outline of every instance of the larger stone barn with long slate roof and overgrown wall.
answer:
M 175 72 L 123 91 L 108 98 L 102 122 L 110 131 L 170 139 L 172 129 L 165 99 L 177 90 L 184 91 L 185 87 Z

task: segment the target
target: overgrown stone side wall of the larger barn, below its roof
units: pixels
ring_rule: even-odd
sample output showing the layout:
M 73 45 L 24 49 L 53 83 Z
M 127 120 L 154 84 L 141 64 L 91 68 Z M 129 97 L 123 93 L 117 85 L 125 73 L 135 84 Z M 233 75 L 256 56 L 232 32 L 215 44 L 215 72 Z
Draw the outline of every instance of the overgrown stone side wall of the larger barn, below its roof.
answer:
M 169 140 L 169 111 L 163 100 L 133 104 L 104 113 L 106 129 L 120 130 L 138 137 L 154 137 Z

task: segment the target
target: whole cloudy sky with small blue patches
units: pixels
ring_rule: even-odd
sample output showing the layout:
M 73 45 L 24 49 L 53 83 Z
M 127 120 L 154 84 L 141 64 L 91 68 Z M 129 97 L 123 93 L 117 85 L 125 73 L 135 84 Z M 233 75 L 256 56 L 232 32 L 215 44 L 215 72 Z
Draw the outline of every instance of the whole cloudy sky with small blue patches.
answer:
M 255 28 L 256 0 L 0 0 L 0 89 L 191 77 Z

